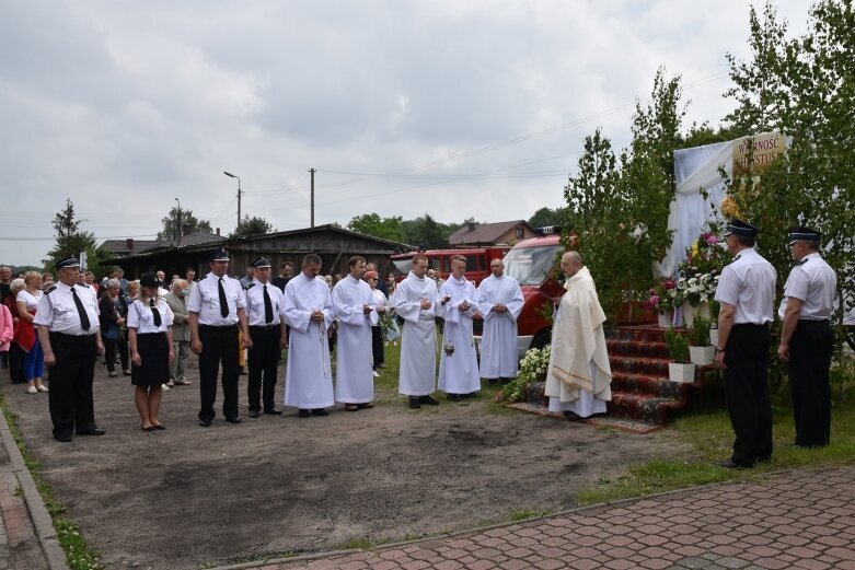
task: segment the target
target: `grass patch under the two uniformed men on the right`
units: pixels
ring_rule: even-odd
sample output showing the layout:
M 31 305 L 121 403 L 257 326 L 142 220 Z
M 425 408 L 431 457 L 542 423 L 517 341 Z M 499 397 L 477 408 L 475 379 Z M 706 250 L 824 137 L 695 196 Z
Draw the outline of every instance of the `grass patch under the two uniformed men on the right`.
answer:
M 776 410 L 772 426 L 772 461 L 759 464 L 754 469 L 726 469 L 718 466 L 718 462 L 730 456 L 733 443 L 733 432 L 725 411 L 686 416 L 668 429 L 674 432 L 674 438 L 689 443 L 692 457 L 684 461 L 655 460 L 633 465 L 626 475 L 600 478 L 594 487 L 577 495 L 577 502 L 582 505 L 593 504 L 712 482 L 747 480 L 784 468 L 851 463 L 855 457 L 855 399 L 846 394 L 835 395 L 831 444 L 822 449 L 793 447 L 793 411 L 788 408 Z

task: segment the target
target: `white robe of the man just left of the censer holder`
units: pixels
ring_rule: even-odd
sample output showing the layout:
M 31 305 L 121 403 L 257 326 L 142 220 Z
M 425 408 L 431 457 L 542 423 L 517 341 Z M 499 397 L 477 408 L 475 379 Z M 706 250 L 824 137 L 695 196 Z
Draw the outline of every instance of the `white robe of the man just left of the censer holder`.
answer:
M 430 301 L 430 309 L 421 309 L 423 299 Z M 437 283 L 411 271 L 395 289 L 394 304 L 405 321 L 397 391 L 405 396 L 428 396 L 437 389 Z

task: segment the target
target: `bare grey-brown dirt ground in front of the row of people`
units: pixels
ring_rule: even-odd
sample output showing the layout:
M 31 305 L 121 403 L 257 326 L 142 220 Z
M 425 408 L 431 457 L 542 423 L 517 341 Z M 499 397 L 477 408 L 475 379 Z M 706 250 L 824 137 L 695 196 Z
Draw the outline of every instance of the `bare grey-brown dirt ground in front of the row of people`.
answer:
M 195 370 L 189 380 L 164 394 L 167 429 L 149 433 L 129 379 L 99 365 L 95 417 L 108 433 L 73 443 L 53 440 L 46 395 L 3 386 L 31 453 L 109 569 L 197 569 L 557 511 L 628 464 L 685 453 L 668 430 L 638 435 L 497 412 L 489 394 L 416 411 L 386 392 L 371 410 L 251 419 L 246 376 L 243 423 L 222 419 L 218 395 L 205 429 Z M 277 402 L 281 394 L 280 380 Z

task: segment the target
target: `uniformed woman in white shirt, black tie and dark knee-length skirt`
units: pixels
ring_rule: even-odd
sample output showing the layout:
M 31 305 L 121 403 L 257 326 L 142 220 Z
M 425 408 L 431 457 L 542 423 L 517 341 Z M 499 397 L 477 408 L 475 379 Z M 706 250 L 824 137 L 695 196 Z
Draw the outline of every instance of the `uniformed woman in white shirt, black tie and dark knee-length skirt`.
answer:
M 158 298 L 158 279 L 154 274 L 142 274 L 139 299 L 128 307 L 128 340 L 134 368 L 130 383 L 136 386 L 134 402 L 137 405 L 142 431 L 165 430 L 158 421 L 162 395 L 161 385 L 170 380 L 172 351 L 172 310 Z

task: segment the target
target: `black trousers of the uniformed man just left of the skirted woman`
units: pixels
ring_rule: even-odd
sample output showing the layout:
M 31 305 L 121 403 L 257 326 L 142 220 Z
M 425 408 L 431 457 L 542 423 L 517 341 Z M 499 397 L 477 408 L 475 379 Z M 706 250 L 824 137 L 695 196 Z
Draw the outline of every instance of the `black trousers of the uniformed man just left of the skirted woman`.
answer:
M 95 335 L 50 333 L 50 348 L 56 357 L 56 363 L 49 369 L 50 392 L 47 394 L 54 437 L 96 429 L 92 403 L 97 354 Z

